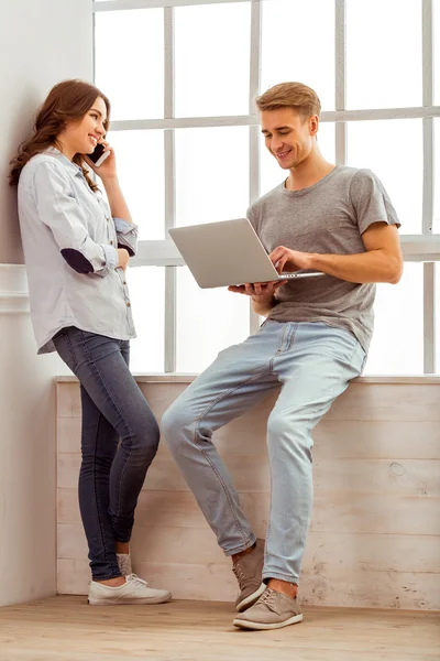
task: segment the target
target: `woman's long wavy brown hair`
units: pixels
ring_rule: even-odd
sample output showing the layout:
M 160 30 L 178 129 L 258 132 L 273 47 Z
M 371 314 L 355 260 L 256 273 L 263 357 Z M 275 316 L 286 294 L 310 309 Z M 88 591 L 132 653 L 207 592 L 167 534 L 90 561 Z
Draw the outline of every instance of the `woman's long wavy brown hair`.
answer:
M 107 120 L 105 122 L 107 131 L 110 101 L 97 87 L 84 80 L 63 80 L 63 83 L 58 83 L 51 89 L 36 116 L 32 137 L 20 145 L 16 158 L 10 163 L 12 165 L 9 176 L 11 186 L 18 185 L 20 173 L 32 156 L 40 154 L 50 147 L 59 149 L 56 140 L 57 136 L 64 130 L 68 121 L 81 120 L 90 110 L 97 97 L 101 97 L 107 107 Z M 88 175 L 82 155 L 76 154 L 73 160 L 81 167 L 90 188 L 94 192 L 98 191 L 97 184 Z

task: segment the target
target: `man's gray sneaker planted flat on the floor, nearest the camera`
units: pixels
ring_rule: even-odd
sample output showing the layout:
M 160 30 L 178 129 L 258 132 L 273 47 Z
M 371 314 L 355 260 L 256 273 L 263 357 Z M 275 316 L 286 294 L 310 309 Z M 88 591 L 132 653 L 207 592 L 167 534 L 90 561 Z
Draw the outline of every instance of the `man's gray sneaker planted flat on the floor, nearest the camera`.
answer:
M 302 613 L 297 598 L 266 587 L 260 599 L 243 615 L 233 621 L 243 629 L 280 629 L 287 625 L 296 625 L 302 620 Z

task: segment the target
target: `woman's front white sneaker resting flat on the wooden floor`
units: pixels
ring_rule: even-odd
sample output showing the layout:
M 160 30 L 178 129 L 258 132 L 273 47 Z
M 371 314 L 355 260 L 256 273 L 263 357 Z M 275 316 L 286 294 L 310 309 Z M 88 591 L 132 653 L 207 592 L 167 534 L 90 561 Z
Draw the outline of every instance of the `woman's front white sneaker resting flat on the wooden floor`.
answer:
M 110 587 L 96 581 L 90 582 L 89 604 L 92 606 L 117 606 L 119 604 L 164 604 L 172 598 L 167 589 L 154 589 L 135 574 L 125 576 L 125 583 Z

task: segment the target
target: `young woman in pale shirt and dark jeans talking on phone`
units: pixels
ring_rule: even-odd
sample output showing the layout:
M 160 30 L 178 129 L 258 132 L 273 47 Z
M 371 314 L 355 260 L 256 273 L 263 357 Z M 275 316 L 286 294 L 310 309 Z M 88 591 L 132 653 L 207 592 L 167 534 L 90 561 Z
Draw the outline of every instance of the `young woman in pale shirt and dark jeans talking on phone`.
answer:
M 134 509 L 158 445 L 156 420 L 129 369 L 135 336 L 125 281 L 138 228 L 105 141 L 110 102 L 81 80 L 56 85 L 12 162 L 38 354 L 56 350 L 80 382 L 79 506 L 89 546 L 90 604 L 158 604 L 131 571 Z M 87 158 L 101 142 L 97 169 Z M 97 172 L 107 202 L 85 165 Z M 119 438 L 121 440 L 118 447 Z

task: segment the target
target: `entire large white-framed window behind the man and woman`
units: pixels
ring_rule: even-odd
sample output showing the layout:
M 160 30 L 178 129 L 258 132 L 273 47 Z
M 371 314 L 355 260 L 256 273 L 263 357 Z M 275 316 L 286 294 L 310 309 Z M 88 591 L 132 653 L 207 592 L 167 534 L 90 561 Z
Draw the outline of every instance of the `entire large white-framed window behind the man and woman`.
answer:
M 199 290 L 167 231 L 242 217 L 282 182 L 253 99 L 287 79 L 317 90 L 328 160 L 373 170 L 402 219 L 405 273 L 377 286 L 366 373 L 440 370 L 440 0 L 92 7 L 96 83 L 140 226 L 133 370 L 200 371 L 257 327 L 245 296 Z

